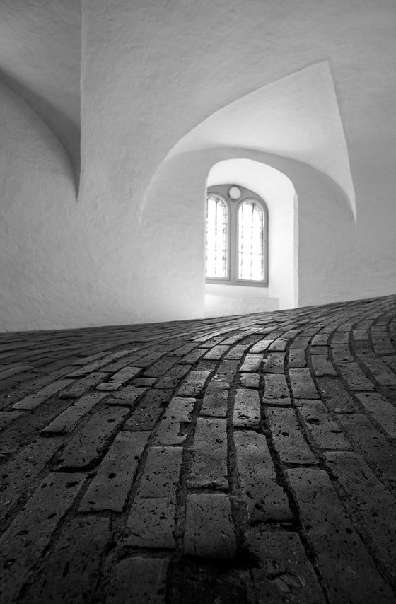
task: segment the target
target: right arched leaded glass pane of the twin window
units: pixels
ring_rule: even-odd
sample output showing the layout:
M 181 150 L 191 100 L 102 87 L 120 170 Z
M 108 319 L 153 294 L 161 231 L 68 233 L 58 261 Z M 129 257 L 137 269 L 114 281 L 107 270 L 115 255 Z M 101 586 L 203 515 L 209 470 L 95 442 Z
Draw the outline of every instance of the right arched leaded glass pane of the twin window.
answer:
M 253 201 L 238 211 L 238 279 L 264 281 L 264 211 Z

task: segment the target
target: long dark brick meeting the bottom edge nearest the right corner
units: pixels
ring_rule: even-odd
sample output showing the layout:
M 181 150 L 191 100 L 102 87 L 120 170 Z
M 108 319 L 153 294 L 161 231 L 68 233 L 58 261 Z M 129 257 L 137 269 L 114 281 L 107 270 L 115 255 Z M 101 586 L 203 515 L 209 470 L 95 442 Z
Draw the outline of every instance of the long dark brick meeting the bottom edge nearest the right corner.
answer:
M 287 470 L 287 475 L 330 601 L 392 602 L 389 586 L 344 512 L 327 473 L 296 468 Z

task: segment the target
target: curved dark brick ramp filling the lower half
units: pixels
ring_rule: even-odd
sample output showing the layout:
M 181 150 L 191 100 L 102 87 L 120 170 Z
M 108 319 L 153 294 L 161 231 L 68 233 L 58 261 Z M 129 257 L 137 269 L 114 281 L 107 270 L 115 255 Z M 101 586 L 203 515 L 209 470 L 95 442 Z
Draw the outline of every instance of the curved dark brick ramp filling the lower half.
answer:
M 4 603 L 393 603 L 396 297 L 0 337 Z

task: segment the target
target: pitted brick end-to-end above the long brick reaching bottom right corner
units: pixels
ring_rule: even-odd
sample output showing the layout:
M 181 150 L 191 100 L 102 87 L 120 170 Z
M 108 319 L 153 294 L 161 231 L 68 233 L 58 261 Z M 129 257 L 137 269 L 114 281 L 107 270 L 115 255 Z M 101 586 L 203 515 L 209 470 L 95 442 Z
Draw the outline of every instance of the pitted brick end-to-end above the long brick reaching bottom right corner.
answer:
M 296 412 L 283 407 L 266 407 L 276 451 L 283 463 L 318 463 L 301 434 Z

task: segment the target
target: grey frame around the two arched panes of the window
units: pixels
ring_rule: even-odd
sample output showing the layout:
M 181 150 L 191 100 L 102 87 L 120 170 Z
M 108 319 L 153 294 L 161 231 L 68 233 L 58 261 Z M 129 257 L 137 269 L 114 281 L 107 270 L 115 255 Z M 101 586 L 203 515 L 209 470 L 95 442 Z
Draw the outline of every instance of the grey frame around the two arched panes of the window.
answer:
M 231 187 L 238 187 L 241 195 L 238 199 L 231 199 L 228 195 L 228 191 Z M 233 286 L 248 286 L 248 287 L 268 287 L 269 273 L 268 273 L 268 208 L 264 199 L 257 195 L 254 191 L 242 187 L 241 185 L 235 185 L 233 183 L 226 185 L 214 185 L 208 187 L 206 190 L 205 204 L 207 198 L 211 195 L 215 195 L 226 203 L 228 209 L 228 233 L 227 233 L 227 245 L 228 245 L 228 257 L 227 257 L 227 277 L 206 277 L 205 281 L 209 284 L 223 284 Z M 240 206 L 244 202 L 254 202 L 260 206 L 264 212 L 264 280 L 263 281 L 252 281 L 250 279 L 238 279 L 238 249 L 239 249 L 239 228 L 238 228 L 238 214 Z M 205 212 L 206 220 L 206 212 Z M 205 238 L 206 238 L 206 223 L 205 223 Z M 206 250 L 206 240 L 205 240 Z M 206 267 L 205 267 L 206 272 Z

